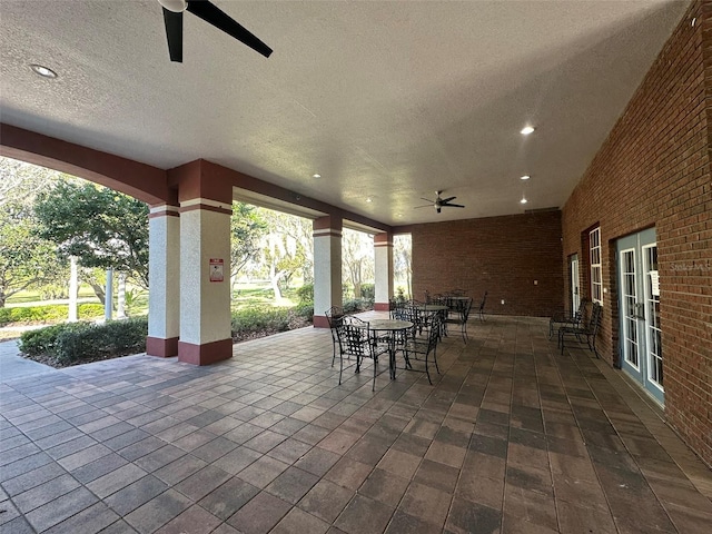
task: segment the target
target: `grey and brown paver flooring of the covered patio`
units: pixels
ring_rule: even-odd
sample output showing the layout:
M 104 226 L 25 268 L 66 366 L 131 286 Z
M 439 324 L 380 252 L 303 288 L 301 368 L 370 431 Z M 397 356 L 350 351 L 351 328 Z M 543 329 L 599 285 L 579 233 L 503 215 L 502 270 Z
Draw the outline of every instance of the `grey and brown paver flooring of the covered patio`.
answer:
M 418 373 L 346 373 L 328 330 L 194 367 L 132 356 L 0 387 L 0 532 L 709 533 L 712 473 L 540 318 L 472 322 Z

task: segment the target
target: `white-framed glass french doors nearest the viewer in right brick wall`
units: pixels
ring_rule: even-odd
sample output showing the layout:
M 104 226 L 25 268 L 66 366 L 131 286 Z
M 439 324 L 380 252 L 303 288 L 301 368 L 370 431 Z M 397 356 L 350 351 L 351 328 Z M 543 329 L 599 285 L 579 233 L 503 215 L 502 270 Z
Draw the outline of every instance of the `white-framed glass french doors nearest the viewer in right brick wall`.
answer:
M 664 404 L 655 229 L 616 241 L 621 368 Z

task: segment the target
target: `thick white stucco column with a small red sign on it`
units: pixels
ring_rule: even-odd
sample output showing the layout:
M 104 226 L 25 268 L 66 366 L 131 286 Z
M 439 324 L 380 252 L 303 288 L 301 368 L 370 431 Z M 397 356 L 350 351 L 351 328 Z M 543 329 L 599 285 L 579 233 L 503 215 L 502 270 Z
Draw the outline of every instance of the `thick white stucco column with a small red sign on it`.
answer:
M 178 359 L 208 365 L 233 356 L 230 335 L 231 185 L 199 160 L 172 169 L 180 201 Z

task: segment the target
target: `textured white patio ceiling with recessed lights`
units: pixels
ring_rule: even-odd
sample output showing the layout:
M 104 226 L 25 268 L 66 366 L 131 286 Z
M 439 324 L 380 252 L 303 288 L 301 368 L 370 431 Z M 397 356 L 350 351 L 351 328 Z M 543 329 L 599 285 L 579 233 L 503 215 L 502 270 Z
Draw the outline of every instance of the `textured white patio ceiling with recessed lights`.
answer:
M 186 13 L 171 63 L 157 0 L 1 0 L 0 119 L 392 225 L 516 214 L 564 204 L 689 4 L 214 3 L 273 56 Z M 414 209 L 436 189 L 466 208 Z

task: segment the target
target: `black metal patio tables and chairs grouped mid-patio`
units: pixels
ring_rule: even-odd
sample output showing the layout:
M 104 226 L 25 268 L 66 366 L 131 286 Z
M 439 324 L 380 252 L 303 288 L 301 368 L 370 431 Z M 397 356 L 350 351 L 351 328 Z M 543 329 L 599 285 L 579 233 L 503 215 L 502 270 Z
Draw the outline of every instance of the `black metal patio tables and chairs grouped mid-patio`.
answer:
M 478 308 L 481 320 L 484 320 L 486 291 Z M 360 373 L 364 362 L 373 363 L 373 386 L 376 388 L 376 377 L 385 368 L 378 369 L 378 358 L 388 357 L 390 379 L 396 378 L 398 368 L 397 354 L 403 356 L 403 369 L 425 373 L 431 378 L 431 366 L 439 374 L 437 366 L 437 345 L 448 335 L 448 326 L 459 327 L 464 343 L 467 343 L 467 319 L 472 310 L 472 297 L 462 291 L 448 294 L 426 295 L 425 301 L 390 299 L 389 317 L 364 320 L 354 315 L 345 314 L 343 308 L 334 306 L 325 315 L 332 332 L 334 352 L 332 366 L 339 358 L 339 385 L 344 370 L 355 367 Z

